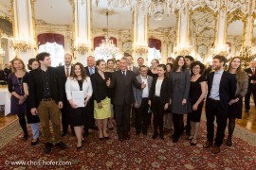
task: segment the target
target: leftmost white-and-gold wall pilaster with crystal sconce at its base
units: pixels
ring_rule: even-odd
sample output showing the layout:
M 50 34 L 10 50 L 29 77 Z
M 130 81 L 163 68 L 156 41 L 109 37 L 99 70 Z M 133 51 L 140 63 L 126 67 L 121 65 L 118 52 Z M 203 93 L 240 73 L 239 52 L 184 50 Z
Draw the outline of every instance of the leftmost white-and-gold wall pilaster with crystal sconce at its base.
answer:
M 36 55 L 33 0 L 11 0 L 13 14 L 13 37 L 10 59 L 21 58 L 27 65 L 28 59 Z M 9 59 L 9 60 L 10 60 Z

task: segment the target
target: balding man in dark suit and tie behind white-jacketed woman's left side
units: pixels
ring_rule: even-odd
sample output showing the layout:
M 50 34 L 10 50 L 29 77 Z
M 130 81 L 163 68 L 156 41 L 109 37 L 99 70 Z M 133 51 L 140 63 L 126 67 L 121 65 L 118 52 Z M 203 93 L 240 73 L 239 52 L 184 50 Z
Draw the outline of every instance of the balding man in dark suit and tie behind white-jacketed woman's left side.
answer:
M 66 78 L 68 76 L 70 76 L 72 74 L 72 71 L 73 71 L 71 62 L 72 62 L 72 55 L 69 54 L 69 53 L 66 53 L 66 54 L 64 54 L 64 65 L 57 67 L 58 76 L 60 76 L 61 79 L 62 79 L 63 89 L 64 89 Z M 70 120 L 69 120 L 70 116 L 69 116 L 69 112 L 68 112 L 69 103 L 66 99 L 65 90 L 63 91 L 63 96 L 64 96 L 64 100 L 63 100 L 64 107 L 61 109 L 61 111 L 62 111 L 62 125 L 63 125 L 63 134 L 62 134 L 62 136 L 65 136 L 67 134 L 68 125 L 70 124 Z M 75 136 L 74 127 L 71 125 L 70 128 L 71 128 L 71 131 L 72 131 L 72 135 Z

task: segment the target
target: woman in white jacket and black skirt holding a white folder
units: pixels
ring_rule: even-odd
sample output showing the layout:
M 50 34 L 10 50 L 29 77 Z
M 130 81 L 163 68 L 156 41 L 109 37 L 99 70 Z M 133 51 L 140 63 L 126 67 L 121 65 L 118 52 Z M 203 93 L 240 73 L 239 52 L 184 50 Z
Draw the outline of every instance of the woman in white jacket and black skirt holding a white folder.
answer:
M 83 93 L 84 106 L 81 106 L 81 104 L 79 105 L 74 101 L 74 93 L 78 93 L 79 91 L 82 91 Z M 85 108 L 93 93 L 90 77 L 86 76 L 82 63 L 77 62 L 74 65 L 74 72 L 72 76 L 69 76 L 66 79 L 65 93 L 66 98 L 71 106 L 71 122 L 74 126 L 76 137 L 78 140 L 77 149 L 80 149 L 82 147 L 82 142 L 84 141 L 84 139 L 82 138 L 82 133 L 83 125 L 85 124 Z

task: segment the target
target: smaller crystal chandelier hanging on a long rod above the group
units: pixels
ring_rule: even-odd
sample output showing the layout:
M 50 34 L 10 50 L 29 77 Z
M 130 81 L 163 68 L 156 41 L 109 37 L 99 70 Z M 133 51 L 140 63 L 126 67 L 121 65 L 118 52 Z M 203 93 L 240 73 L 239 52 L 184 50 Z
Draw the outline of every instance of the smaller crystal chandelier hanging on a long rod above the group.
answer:
M 116 45 L 113 43 L 113 40 L 111 40 L 108 36 L 108 12 L 109 11 L 107 10 L 107 35 L 105 36 L 105 39 L 101 41 L 100 47 L 98 47 L 96 50 L 101 55 L 112 58 L 114 55 L 119 53 L 119 48 L 116 47 Z

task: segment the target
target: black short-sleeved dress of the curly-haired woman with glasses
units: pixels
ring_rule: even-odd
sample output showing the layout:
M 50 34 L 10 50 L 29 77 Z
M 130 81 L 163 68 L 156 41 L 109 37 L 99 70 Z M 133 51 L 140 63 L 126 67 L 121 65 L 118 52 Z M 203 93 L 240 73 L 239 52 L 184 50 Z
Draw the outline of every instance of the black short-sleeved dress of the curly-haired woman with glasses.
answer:
M 194 82 L 191 81 L 190 97 L 191 97 L 192 106 L 196 103 L 196 101 L 198 100 L 198 98 L 202 93 L 200 83 L 203 81 L 206 81 L 205 76 L 200 76 Z M 192 113 L 188 115 L 192 122 L 200 122 L 203 105 L 204 105 L 204 100 L 198 105 L 197 110 L 192 110 Z

